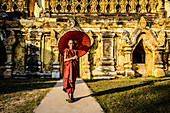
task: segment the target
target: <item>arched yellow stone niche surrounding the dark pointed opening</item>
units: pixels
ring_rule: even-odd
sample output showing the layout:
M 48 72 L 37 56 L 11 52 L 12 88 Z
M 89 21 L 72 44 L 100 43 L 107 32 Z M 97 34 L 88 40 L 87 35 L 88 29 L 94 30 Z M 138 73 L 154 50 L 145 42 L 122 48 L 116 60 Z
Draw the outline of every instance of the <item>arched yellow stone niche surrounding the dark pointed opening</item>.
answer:
M 150 31 L 141 30 L 134 38 L 132 48 L 133 69 L 136 75 L 153 75 L 155 35 Z

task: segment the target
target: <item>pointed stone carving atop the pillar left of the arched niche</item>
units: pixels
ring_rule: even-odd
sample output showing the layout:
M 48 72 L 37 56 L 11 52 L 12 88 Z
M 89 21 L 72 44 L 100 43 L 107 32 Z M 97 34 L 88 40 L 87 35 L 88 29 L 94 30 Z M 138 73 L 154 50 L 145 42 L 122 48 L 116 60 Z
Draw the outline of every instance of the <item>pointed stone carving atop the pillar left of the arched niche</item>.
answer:
M 130 44 L 132 44 L 132 41 L 130 39 L 130 33 L 127 30 L 123 31 L 122 38 L 120 39 L 120 43 L 122 45 L 130 45 Z

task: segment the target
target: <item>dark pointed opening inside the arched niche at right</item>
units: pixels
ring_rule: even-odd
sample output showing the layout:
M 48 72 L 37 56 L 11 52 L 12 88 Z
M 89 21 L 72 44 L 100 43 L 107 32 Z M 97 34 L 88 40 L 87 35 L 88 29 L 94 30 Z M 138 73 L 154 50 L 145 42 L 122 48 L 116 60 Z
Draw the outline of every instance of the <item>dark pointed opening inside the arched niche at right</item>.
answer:
M 143 39 L 136 46 L 133 51 L 133 63 L 145 63 L 145 51 L 143 47 Z

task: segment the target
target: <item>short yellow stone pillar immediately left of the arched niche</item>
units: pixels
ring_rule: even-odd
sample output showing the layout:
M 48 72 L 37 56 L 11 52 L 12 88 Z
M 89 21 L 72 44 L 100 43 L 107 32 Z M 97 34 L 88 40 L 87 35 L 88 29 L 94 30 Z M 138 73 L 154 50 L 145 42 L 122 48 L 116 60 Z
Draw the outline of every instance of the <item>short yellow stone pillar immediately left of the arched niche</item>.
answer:
M 124 62 L 125 76 L 126 77 L 134 76 L 135 72 L 132 70 L 132 47 L 125 46 L 124 54 L 125 54 L 125 62 Z

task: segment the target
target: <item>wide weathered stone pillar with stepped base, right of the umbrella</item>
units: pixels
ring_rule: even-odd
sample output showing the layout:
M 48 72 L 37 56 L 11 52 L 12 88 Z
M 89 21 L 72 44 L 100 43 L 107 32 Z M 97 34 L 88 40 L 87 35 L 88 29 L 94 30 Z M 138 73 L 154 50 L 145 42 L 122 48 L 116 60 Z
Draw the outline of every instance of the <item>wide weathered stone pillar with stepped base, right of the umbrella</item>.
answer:
M 115 33 L 101 33 L 101 58 L 98 69 L 93 75 L 116 75 L 114 62 L 114 36 Z

